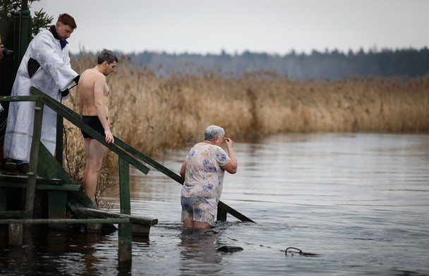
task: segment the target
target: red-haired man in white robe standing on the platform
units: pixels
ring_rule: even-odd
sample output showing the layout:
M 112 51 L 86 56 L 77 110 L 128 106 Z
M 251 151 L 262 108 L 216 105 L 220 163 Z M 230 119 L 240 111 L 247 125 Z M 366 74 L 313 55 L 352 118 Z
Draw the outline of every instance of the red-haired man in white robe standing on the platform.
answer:
M 74 18 L 62 13 L 55 25 L 35 36 L 18 68 L 11 96 L 30 95 L 36 87 L 56 101 L 66 99 L 68 87 L 79 75 L 70 64 L 66 39 L 77 27 Z M 4 158 L 16 161 L 16 172 L 28 172 L 34 121 L 33 101 L 12 101 L 4 137 Z M 56 112 L 44 106 L 41 141 L 54 154 L 56 145 Z

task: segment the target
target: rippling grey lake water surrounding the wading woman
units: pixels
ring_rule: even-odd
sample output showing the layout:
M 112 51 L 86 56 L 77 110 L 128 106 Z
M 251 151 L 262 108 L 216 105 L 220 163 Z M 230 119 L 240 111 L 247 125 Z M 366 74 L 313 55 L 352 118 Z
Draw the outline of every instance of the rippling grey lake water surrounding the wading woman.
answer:
M 429 275 L 428 134 L 280 134 L 234 150 L 221 200 L 256 223 L 184 231 L 181 185 L 131 168 L 131 213 L 159 220 L 133 239 L 131 268 L 117 232 L 49 232 L 0 243 L 0 275 Z M 187 151 L 163 164 L 179 172 Z M 118 196 L 103 201 L 118 211 Z

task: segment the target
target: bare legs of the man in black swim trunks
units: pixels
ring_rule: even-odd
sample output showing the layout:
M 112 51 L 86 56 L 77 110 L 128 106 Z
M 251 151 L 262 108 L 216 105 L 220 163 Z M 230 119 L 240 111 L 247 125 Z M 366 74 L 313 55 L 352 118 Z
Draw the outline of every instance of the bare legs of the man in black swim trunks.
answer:
M 83 189 L 85 194 L 95 202 L 97 176 L 102 168 L 102 161 L 106 147 L 96 139 L 83 139 L 85 145 L 85 170 L 83 171 Z

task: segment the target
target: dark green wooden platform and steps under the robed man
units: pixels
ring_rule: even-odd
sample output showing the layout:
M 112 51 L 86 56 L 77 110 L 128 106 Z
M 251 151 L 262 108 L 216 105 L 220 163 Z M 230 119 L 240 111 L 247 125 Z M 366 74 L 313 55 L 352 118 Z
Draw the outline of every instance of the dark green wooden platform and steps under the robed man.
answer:
M 43 165 L 41 165 L 41 167 L 43 167 Z M 158 222 L 158 220 L 154 218 L 144 218 L 135 215 L 111 213 L 107 210 L 100 210 L 92 203 L 92 201 L 85 199 L 87 196 L 83 192 L 83 187 L 81 185 L 68 184 L 71 180 L 43 178 L 40 176 L 36 177 L 35 189 L 42 190 L 48 194 L 47 217 L 50 221 L 37 218 L 23 220 L 27 215 L 25 211 L 6 210 L 8 189 L 25 189 L 28 182 L 28 175 L 18 174 L 13 172 L 12 169 L 13 165 L 9 164 L 6 165 L 6 170 L 0 170 L 0 224 L 48 223 L 51 228 L 66 229 L 69 224 L 85 223 L 88 231 L 102 232 L 104 230 L 116 230 L 113 223 L 119 223 L 120 221 L 126 220 L 132 225 L 133 235 L 147 236 L 150 233 L 150 227 L 156 225 Z M 56 168 L 56 170 L 58 170 L 58 168 Z M 66 219 L 67 206 L 75 218 Z M 115 222 L 116 220 L 118 222 Z

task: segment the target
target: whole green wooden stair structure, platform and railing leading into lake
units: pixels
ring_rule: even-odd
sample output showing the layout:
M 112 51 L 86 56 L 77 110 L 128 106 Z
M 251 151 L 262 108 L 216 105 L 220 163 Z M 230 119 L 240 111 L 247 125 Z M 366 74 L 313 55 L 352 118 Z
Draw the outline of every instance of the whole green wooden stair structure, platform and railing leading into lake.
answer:
M 119 262 L 131 262 L 132 235 L 149 234 L 150 227 L 157 224 L 157 219 L 131 215 L 129 165 L 133 165 L 145 175 L 150 170 L 147 165 L 150 165 L 172 180 L 183 184 L 181 177 L 118 137 L 114 137 L 114 144 L 107 144 L 101 134 L 80 120 L 78 113 L 35 87 L 32 87 L 31 93 L 32 96 L 0 96 L 0 102 L 35 101 L 29 172 L 27 175 L 0 172 L 0 225 L 8 225 L 9 244 L 22 244 L 24 225 L 48 224 L 50 228 L 64 229 L 66 225 L 70 224 L 85 224 L 90 230 L 102 230 L 103 228 L 116 229 L 114 224 L 119 224 Z M 64 170 L 61 165 L 62 134 L 61 139 L 58 139 L 57 142 L 56 152 L 59 153 L 59 156 L 56 158 L 40 142 L 44 106 L 56 111 L 61 125 L 65 118 L 119 156 L 120 213 L 99 210 L 83 192 L 82 187 L 76 184 Z M 60 131 L 61 128 L 59 127 Z M 7 201 L 11 200 L 8 199 L 8 192 L 13 189 L 25 189 L 25 208 L 23 210 L 16 211 L 6 208 Z M 47 218 L 34 218 L 36 191 L 44 191 L 47 194 Z M 66 211 L 69 211 L 74 218 L 66 218 Z M 241 221 L 253 222 L 234 208 L 219 201 L 217 220 L 226 220 L 228 213 Z

